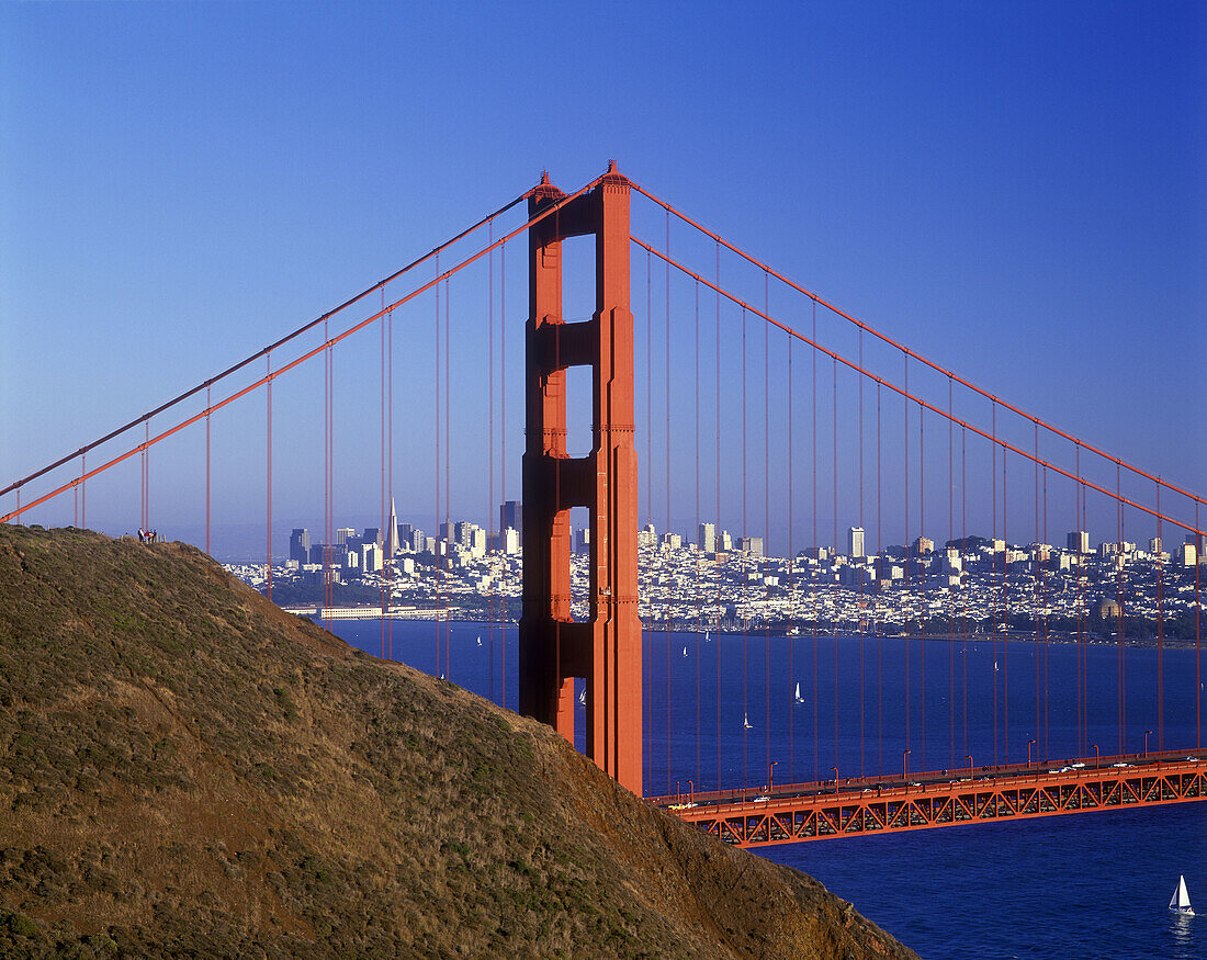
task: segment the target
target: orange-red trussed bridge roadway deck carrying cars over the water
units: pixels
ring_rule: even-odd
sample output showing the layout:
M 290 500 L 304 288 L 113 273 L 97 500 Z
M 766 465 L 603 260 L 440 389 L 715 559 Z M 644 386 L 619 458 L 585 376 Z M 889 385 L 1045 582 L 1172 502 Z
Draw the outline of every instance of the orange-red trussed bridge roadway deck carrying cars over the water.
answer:
M 737 846 L 1207 799 L 1207 751 L 684 792 L 651 803 Z

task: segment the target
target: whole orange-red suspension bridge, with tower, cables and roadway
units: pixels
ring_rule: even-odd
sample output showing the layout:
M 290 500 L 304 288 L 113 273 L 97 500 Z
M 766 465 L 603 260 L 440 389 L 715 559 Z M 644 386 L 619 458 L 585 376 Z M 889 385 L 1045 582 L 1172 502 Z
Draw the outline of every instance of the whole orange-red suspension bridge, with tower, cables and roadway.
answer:
M 517 244 L 524 245 L 521 257 Z M 507 328 L 518 310 L 507 298 L 509 251 L 512 272 L 517 264 L 527 270 L 526 284 L 513 278 L 513 299 L 526 289 L 529 301 L 523 374 L 513 370 L 511 380 L 508 368 L 518 365 L 508 357 Z M 398 350 L 406 361 L 401 368 Z M 424 514 L 437 526 L 443 522 L 447 531 L 454 504 L 460 512 L 484 508 L 491 516 L 507 499 L 517 447 L 513 436 L 509 459 L 508 435 L 517 429 L 507 403 L 511 396 L 514 413 L 517 395 L 524 407 L 523 612 L 513 665 L 518 706 L 573 743 L 579 680 L 585 688 L 581 746 L 634 792 L 741 845 L 1203 798 L 1203 500 L 910 350 L 622 175 L 614 162 L 568 193 L 543 176 L 339 307 L 10 483 L 0 490 L 0 520 L 83 526 L 91 495 L 94 512 L 100 504 L 107 517 L 150 530 L 168 499 L 161 491 L 179 499 L 196 490 L 196 513 L 204 517 L 199 546 L 212 552 L 211 517 L 229 512 L 222 490 L 234 489 L 233 477 L 246 481 L 262 466 L 264 592 L 273 597 L 279 555 L 274 491 L 279 496 L 287 488 L 296 511 L 297 490 L 307 488 L 303 499 L 322 511 L 320 606 L 330 610 L 336 606 L 338 511 L 350 501 L 378 500 L 385 529 L 402 488 L 406 502 L 422 502 Z M 366 427 L 371 413 L 375 431 Z M 246 438 L 261 430 L 260 454 L 250 455 L 246 444 L 237 456 L 223 454 L 222 437 Z M 320 435 L 321 462 L 309 454 Z M 462 466 L 466 450 L 478 456 L 476 469 Z M 350 455 L 363 462 L 374 454 L 380 482 L 369 490 L 363 477 L 348 478 L 343 465 Z M 657 498 L 655 481 L 661 485 Z M 239 489 L 246 496 L 246 488 Z M 590 531 L 585 589 L 571 576 L 576 511 Z M 730 551 L 716 545 L 706 551 L 701 535 L 661 587 L 687 611 L 677 619 L 694 632 L 696 673 L 694 726 L 689 721 L 672 731 L 670 708 L 665 711 L 666 784 L 659 793 L 648 789 L 645 772 L 649 691 L 641 611 L 653 601 L 639 590 L 639 526 L 645 517 L 669 531 L 690 519 L 702 530 L 709 516 L 728 517 L 741 537 Z M 858 553 L 852 546 L 853 555 L 841 565 L 834 559 L 840 516 L 853 520 L 852 535 L 859 531 Z M 1101 624 L 1091 624 L 1086 600 L 1084 531 L 1091 526 L 1112 534 L 1102 551 L 1114 600 L 1107 617 L 1115 650 L 1110 683 L 1090 670 L 1091 648 L 1102 640 L 1091 629 Z M 947 533 L 938 565 L 934 542 L 925 536 L 934 528 Z M 758 530 L 762 539 L 753 536 Z M 975 584 L 968 570 L 974 530 L 987 531 L 991 545 L 989 568 Z M 1050 546 L 1050 530 L 1074 531 L 1067 551 Z M 875 542 L 874 554 L 863 548 L 864 534 Z M 1142 534 L 1151 534 L 1155 543 L 1155 589 L 1143 604 L 1151 609 L 1151 651 L 1138 650 L 1129 636 L 1130 612 L 1142 604 L 1125 562 L 1126 537 Z M 1026 546 L 1013 548 L 1020 537 Z M 1166 568 L 1162 537 L 1189 545 L 1193 581 L 1185 570 Z M 457 664 L 447 590 L 454 559 L 447 539 L 445 533 L 428 576 L 437 592 L 435 663 L 453 677 Z M 772 539 L 787 557 L 786 577 L 765 576 L 756 541 L 769 551 Z M 896 539 L 902 546 L 894 551 L 890 542 Z M 1056 565 L 1057 553 L 1063 568 Z M 718 570 L 737 586 L 728 592 L 712 586 Z M 393 558 L 386 558 L 383 656 L 392 652 L 387 619 L 396 572 Z M 834 609 L 826 607 L 840 577 L 856 607 L 867 611 L 842 632 Z M 497 694 L 495 687 L 496 622 L 505 610 L 491 593 L 496 582 L 485 587 L 490 694 L 506 705 L 506 642 Z M 1101 593 L 1102 584 L 1097 588 Z M 1060 630 L 1053 626 L 1057 594 L 1075 621 Z M 787 598 L 780 606 L 786 612 L 775 622 L 752 617 L 758 600 L 772 597 Z M 898 610 L 891 622 L 886 604 Z M 1167 611 L 1174 606 L 1178 642 L 1193 644 L 1194 661 L 1193 670 L 1167 679 Z M 576 607 L 585 612 L 576 615 Z M 675 617 L 669 601 L 666 607 L 663 622 L 670 629 Z M 1193 639 L 1185 636 L 1186 611 Z M 741 642 L 740 703 L 722 693 L 719 640 L 716 686 L 701 685 L 700 629 L 727 617 L 734 622 L 727 642 Z M 995 651 L 993 671 L 974 676 L 972 686 L 964 658 L 970 630 L 980 630 L 975 635 Z M 1032 645 L 1033 704 L 1009 690 L 1011 676 L 1015 682 L 1019 676 L 1009 656 L 1020 630 Z M 858 639 L 857 732 L 839 716 L 846 696 L 839 688 L 839 645 L 846 633 Z M 1072 692 L 1049 683 L 1049 646 L 1057 633 L 1074 650 Z M 939 675 L 933 662 L 927 671 L 927 657 L 915 662 L 909 653 L 910 645 L 934 642 L 946 645 L 946 670 L 940 667 Z M 787 692 L 771 692 L 772 645 L 786 645 L 788 674 L 804 677 L 812 708 L 804 721 L 795 720 Z M 905 651 L 900 722 L 890 720 L 887 728 L 886 645 Z M 667 699 L 671 646 L 667 641 Z M 794 662 L 798 646 L 804 663 Z M 820 667 L 827 646 L 830 677 Z M 1129 667 L 1136 657 L 1154 656 L 1153 690 L 1144 692 L 1143 704 L 1131 705 Z M 863 682 L 871 673 L 875 703 Z M 775 677 L 776 688 L 787 686 Z M 818 710 L 826 686 L 833 688 L 833 717 Z M 1191 741 L 1167 743 L 1167 686 L 1176 692 L 1173 709 L 1194 704 L 1193 721 L 1178 717 L 1179 731 L 1193 729 Z M 946 764 L 926 769 L 927 693 L 934 690 L 944 693 L 946 709 L 935 716 L 931 708 L 932 738 L 937 726 L 946 728 Z M 968 745 L 968 710 L 985 699 L 992 700 L 992 763 L 978 766 Z M 1116 715 L 1112 744 L 1101 725 L 1092 732 L 1091 712 L 1104 700 L 1114 702 Z M 757 758 L 752 705 L 764 711 L 763 737 L 754 738 L 754 747 L 764 749 Z M 785 710 L 793 717 L 787 743 L 771 734 L 772 711 Z M 735 786 L 724 782 L 721 741 L 723 727 L 739 714 L 742 764 Z M 709 720 L 716 725 L 715 769 L 701 749 Z M 1135 745 L 1142 732 L 1141 752 Z M 821 775 L 827 734 L 832 778 Z M 810 780 L 795 775 L 798 735 L 812 752 Z M 840 738 L 857 739 L 858 775 L 839 775 Z M 686 789 L 683 780 L 671 784 L 672 744 L 681 750 L 687 744 L 683 752 L 690 755 L 678 764 L 693 774 Z M 915 751 L 919 769 L 911 772 Z M 772 754 L 783 752 L 789 774 L 775 782 Z M 752 760 L 766 770 L 765 781 L 752 775 Z

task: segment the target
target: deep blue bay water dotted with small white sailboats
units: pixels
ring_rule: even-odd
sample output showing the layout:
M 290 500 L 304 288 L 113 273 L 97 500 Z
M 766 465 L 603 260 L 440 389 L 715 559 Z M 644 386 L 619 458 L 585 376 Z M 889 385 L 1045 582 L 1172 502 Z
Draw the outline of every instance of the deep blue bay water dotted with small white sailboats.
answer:
M 447 667 L 450 680 L 496 702 L 506 686 L 515 708 L 514 627 L 331 626 L 374 656 L 437 675 Z M 822 635 L 815 648 L 812 635 L 647 632 L 646 792 L 687 791 L 689 781 L 699 790 L 760 787 L 769 772 L 777 784 L 832 779 L 835 767 L 840 778 L 899 776 L 904 764 L 958 770 L 969 755 L 976 766 L 1026 761 L 1028 752 L 1061 766 L 1092 756 L 1095 745 L 1103 756 L 1141 752 L 1145 731 L 1151 750 L 1162 738 L 1168 750 L 1190 749 L 1207 676 L 1193 650 L 1166 650 L 1159 698 L 1158 669 L 1148 648 L 1126 650 L 1120 669 L 1112 646 L 1050 644 L 1045 652 L 958 636 L 906 645 Z M 1038 711 L 1037 688 L 1048 693 Z M 584 716 L 579 709 L 579 744 Z M 1205 802 L 759 853 L 816 877 L 926 958 L 1207 958 L 1207 910 L 1178 918 L 1166 909 L 1179 873 L 1191 900 L 1207 907 Z

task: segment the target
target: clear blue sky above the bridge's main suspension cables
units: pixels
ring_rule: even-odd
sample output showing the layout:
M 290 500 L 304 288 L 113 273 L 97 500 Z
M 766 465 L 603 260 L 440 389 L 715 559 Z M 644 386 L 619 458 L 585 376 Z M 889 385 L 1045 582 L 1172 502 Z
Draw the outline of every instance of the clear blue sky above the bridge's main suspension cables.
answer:
M 1205 97 L 1194 2 L 4 4 L 0 481 L 616 157 L 1201 493 Z

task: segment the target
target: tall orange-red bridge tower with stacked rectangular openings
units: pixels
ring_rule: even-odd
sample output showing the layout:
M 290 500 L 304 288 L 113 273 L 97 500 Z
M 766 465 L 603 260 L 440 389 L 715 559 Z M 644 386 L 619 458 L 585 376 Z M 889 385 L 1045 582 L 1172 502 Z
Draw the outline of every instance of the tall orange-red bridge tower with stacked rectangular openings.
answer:
M 629 181 L 610 164 L 589 192 L 529 229 L 523 462 L 524 605 L 520 712 L 575 740 L 575 679 L 587 687 L 587 755 L 642 793 L 642 661 L 637 612 Z M 536 216 L 566 194 L 543 175 Z M 595 237 L 595 310 L 562 315 L 562 240 Z M 591 450 L 566 452 L 566 370 L 591 368 Z M 589 618 L 571 615 L 570 511 L 590 514 Z

